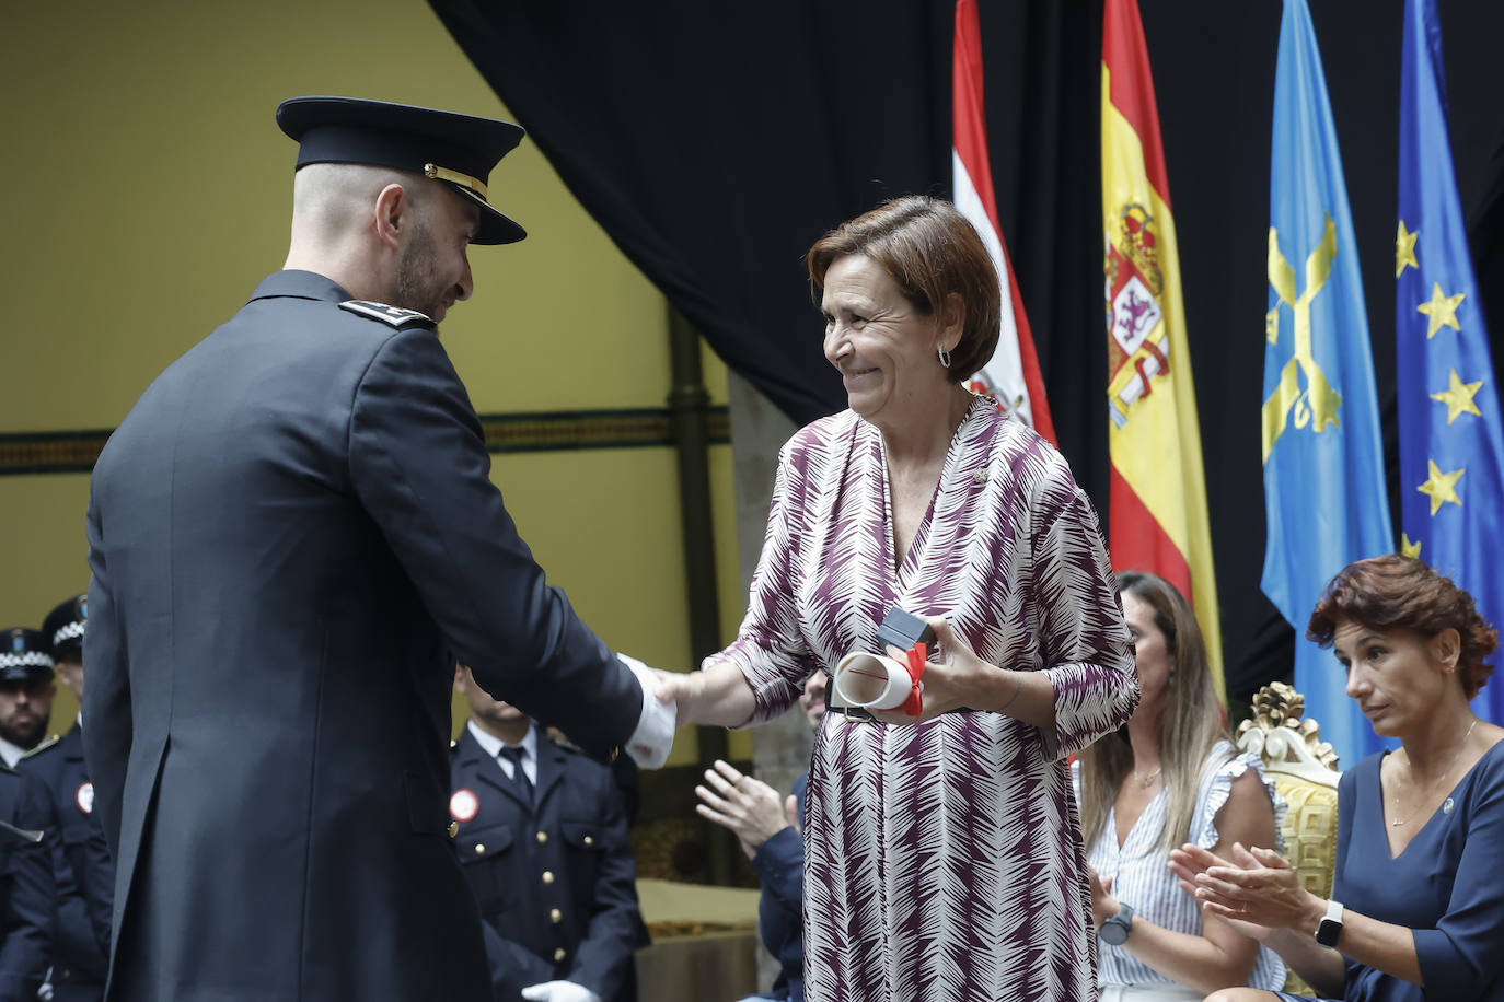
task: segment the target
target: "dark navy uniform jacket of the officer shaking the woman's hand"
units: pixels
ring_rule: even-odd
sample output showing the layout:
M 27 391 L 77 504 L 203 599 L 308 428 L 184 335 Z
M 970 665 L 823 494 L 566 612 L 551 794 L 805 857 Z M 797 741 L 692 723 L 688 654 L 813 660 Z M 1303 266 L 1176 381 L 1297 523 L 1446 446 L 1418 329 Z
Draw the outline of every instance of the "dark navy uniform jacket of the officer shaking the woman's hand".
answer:
M 271 275 L 95 466 L 110 999 L 489 999 L 450 847 L 454 656 L 591 751 L 636 729 L 639 684 L 517 536 L 432 324 L 347 299 Z

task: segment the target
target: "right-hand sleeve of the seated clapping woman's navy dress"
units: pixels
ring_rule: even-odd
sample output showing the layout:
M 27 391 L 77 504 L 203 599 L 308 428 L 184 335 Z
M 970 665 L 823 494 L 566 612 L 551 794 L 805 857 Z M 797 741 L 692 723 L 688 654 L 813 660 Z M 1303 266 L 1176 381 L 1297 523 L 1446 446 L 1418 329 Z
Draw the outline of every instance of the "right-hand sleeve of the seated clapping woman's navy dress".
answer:
M 1498 997 L 1504 978 L 1504 756 L 1489 753 L 1489 774 L 1478 777 L 1468 811 L 1468 835 L 1451 882 L 1447 913 L 1436 928 L 1417 928 L 1415 957 L 1426 997 L 1472 1002 Z

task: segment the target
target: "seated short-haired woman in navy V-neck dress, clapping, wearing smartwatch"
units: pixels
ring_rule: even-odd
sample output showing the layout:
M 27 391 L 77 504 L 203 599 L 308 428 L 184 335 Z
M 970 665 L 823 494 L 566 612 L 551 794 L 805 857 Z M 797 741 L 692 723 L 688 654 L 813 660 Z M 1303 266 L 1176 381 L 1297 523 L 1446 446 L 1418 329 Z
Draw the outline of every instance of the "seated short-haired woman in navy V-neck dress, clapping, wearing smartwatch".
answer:
M 1345 1002 L 1504 999 L 1504 730 L 1468 702 L 1498 631 L 1420 560 L 1346 566 L 1305 635 L 1333 646 L 1348 696 L 1396 753 L 1343 774 L 1331 900 L 1265 849 L 1224 861 L 1185 846 L 1172 867 L 1206 912 L 1278 951 Z M 1206 1002 L 1293 999 L 1232 988 Z

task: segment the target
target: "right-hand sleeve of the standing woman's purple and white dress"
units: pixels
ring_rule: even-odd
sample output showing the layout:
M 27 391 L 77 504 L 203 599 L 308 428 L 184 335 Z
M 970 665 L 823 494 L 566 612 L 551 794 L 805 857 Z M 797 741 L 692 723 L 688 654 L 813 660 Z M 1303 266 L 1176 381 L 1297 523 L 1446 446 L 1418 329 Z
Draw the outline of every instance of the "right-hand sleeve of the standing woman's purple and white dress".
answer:
M 1057 757 L 1133 717 L 1139 673 L 1096 511 L 1060 463 L 1032 503 L 1033 602 L 1039 653 L 1054 687 Z

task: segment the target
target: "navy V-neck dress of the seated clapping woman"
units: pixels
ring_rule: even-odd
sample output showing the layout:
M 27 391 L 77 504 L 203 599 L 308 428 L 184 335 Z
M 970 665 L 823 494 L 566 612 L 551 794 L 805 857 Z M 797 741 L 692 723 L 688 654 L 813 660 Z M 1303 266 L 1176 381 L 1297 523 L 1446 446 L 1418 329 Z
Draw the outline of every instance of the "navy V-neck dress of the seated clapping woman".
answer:
M 1369 756 L 1337 784 L 1331 895 L 1360 915 L 1412 930 L 1426 987 L 1348 960 L 1342 997 L 1504 1000 L 1504 741 L 1478 759 L 1393 858 L 1379 778 L 1387 754 Z

